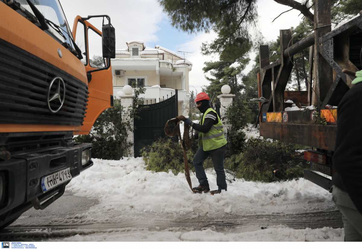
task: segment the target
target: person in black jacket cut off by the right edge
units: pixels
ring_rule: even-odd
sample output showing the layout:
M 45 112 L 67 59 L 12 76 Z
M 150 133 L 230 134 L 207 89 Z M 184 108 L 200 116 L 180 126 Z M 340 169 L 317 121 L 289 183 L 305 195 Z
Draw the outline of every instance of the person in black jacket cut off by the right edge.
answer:
M 338 104 L 333 154 L 333 201 L 342 214 L 345 241 L 362 241 L 362 70 Z

